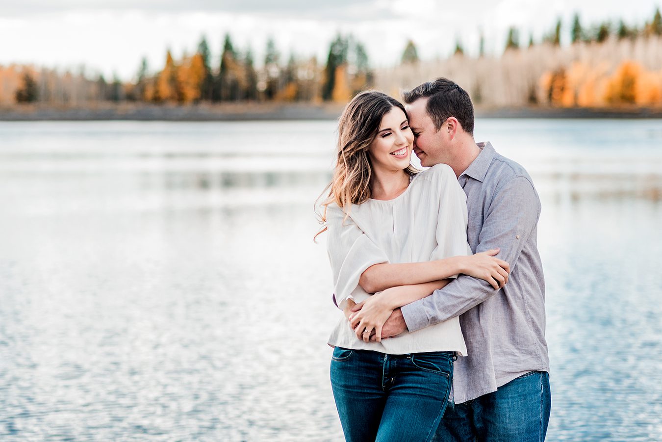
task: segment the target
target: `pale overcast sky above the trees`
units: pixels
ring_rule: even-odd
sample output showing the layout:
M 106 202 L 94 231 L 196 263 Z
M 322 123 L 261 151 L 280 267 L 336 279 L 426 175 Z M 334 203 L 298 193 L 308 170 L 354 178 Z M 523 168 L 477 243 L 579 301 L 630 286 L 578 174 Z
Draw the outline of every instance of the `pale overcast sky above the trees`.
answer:
M 10 4 L 12 3 L 12 4 Z M 500 53 L 507 29 L 520 40 L 538 41 L 558 17 L 569 38 L 571 17 L 584 25 L 623 19 L 639 27 L 662 0 L 0 0 L 0 64 L 36 64 L 113 73 L 130 80 L 143 56 L 160 70 L 170 48 L 175 58 L 195 51 L 207 36 L 218 62 L 223 36 L 239 50 L 252 48 L 260 64 L 269 36 L 287 60 L 317 56 L 326 61 L 338 32 L 352 33 L 367 48 L 373 66 L 398 62 L 408 39 L 421 58 L 448 56 L 459 39 L 475 54 L 479 33 L 487 52 Z

